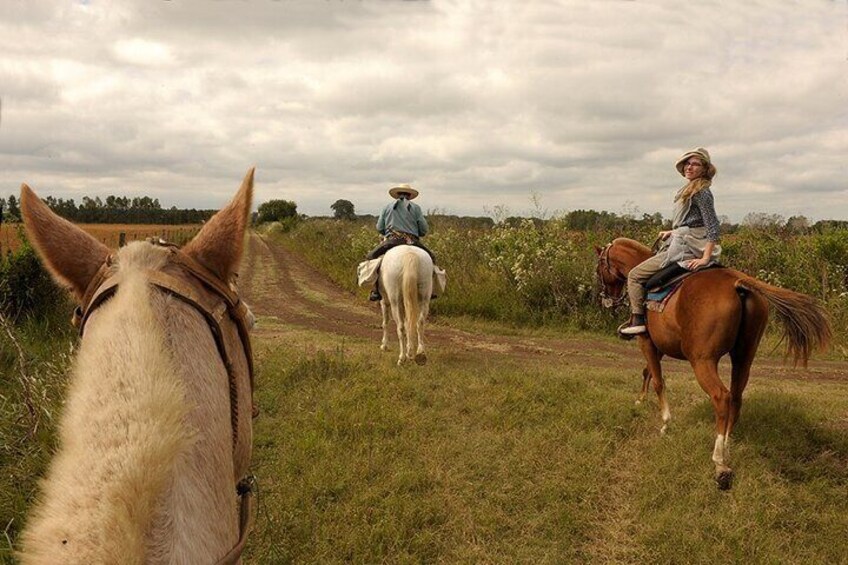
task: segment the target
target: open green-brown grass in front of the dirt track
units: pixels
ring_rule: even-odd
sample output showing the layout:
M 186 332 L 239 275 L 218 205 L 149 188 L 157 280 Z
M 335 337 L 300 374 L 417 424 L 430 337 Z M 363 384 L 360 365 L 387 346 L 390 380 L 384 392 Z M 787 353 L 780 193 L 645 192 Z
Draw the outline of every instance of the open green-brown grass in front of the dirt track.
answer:
M 721 492 L 688 372 L 660 436 L 635 370 L 452 348 L 399 369 L 376 342 L 281 330 L 257 347 L 250 562 L 848 558 L 848 383 L 752 382 Z

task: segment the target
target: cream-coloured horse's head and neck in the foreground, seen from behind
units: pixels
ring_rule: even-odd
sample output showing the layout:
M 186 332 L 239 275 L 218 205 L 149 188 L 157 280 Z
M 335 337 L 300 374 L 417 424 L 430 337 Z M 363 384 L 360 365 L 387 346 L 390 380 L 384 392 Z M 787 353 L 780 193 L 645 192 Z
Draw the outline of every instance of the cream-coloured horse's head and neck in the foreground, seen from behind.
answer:
M 253 169 L 182 250 L 133 242 L 113 254 L 22 186 L 29 238 L 80 303 L 82 334 L 22 562 L 239 560 L 252 358 L 233 280 L 252 195 Z

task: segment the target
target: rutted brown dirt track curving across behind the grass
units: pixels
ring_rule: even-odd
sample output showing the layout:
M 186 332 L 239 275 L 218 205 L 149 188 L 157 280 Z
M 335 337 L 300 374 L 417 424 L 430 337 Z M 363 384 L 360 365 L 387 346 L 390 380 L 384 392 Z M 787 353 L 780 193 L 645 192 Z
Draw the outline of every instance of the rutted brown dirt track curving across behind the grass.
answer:
M 351 276 L 354 276 L 353 269 Z M 380 308 L 376 303 L 369 303 L 364 297 L 340 289 L 297 255 L 259 234 L 250 234 L 240 286 L 245 300 L 260 319 L 255 330 L 257 337 L 270 337 L 285 331 L 280 324 L 263 323 L 264 319 L 339 336 L 373 339 L 375 347 L 380 342 Z M 390 332 L 390 340 L 394 343 L 394 326 Z M 591 340 L 568 335 L 557 339 L 483 335 L 438 323 L 428 325 L 426 336 L 427 343 L 436 347 L 451 344 L 469 352 L 550 358 L 565 365 L 621 367 L 634 375 L 641 372 L 641 354 L 635 342 Z M 664 368 L 669 373 L 690 370 L 688 363 L 674 359 L 664 361 Z M 729 368 L 722 367 L 722 373 L 729 374 Z M 752 371 L 752 377 L 758 376 L 848 380 L 848 363 L 812 361 L 808 370 L 804 370 L 761 355 Z

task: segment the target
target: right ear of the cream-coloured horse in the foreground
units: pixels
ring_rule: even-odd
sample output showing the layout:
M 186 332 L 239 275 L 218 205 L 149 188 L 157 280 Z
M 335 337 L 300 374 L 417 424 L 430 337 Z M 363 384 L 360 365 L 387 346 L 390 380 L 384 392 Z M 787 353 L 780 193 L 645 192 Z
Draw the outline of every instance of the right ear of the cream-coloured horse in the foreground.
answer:
M 228 282 L 241 262 L 244 234 L 247 231 L 250 205 L 253 201 L 251 167 L 233 200 L 212 216 L 194 239 L 184 248 L 186 254 Z

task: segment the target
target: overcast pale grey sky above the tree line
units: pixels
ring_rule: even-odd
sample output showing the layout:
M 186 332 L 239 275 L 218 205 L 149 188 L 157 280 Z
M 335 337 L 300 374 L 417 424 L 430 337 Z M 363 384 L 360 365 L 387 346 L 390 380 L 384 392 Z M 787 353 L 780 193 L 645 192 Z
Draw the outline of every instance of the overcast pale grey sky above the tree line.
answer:
M 848 0 L 3 0 L 0 196 L 848 219 Z

